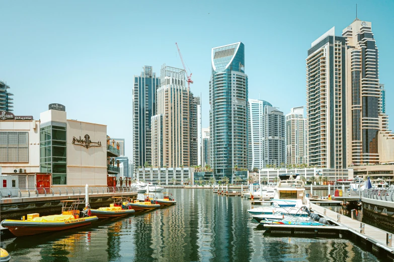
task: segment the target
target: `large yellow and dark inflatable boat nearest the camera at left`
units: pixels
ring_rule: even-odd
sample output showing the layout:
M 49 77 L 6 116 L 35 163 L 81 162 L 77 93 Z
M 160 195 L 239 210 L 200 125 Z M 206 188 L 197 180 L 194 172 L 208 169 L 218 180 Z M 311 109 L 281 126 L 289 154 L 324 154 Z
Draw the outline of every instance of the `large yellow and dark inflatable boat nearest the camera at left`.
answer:
M 7 227 L 15 236 L 25 236 L 90 225 L 98 219 L 97 216 L 90 216 L 90 208 L 82 212 L 77 209 L 79 204 L 85 204 L 80 200 L 61 200 L 60 202 L 62 203 L 60 215 L 40 217 L 38 213 L 28 214 L 27 220 L 5 219 L 1 225 Z

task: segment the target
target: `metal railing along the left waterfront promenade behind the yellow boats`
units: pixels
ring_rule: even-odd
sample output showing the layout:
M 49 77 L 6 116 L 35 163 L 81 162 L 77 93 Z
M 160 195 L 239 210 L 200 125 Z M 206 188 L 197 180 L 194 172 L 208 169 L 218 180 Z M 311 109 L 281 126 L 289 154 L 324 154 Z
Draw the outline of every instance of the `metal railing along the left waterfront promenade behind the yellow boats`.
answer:
M 89 194 L 132 193 L 132 187 L 89 187 Z M 4 188 L 0 189 L 0 198 L 28 198 L 42 196 L 85 195 L 85 187 L 51 187 L 51 188 Z

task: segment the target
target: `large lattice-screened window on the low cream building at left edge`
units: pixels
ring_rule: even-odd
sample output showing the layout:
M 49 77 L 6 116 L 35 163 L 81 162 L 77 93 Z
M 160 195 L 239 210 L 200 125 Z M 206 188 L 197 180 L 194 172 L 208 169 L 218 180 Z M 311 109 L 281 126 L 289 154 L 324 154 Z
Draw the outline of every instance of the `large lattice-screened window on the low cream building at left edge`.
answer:
M 0 132 L 0 163 L 29 162 L 28 132 Z

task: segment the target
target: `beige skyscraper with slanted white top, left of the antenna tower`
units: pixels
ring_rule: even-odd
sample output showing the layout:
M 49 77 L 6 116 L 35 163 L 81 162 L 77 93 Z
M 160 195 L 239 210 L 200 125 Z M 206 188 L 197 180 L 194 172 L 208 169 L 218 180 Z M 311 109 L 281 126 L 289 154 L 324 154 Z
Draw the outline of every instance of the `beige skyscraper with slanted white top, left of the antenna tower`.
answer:
M 311 45 L 306 58 L 306 154 L 309 166 L 346 168 L 344 37 L 333 27 Z

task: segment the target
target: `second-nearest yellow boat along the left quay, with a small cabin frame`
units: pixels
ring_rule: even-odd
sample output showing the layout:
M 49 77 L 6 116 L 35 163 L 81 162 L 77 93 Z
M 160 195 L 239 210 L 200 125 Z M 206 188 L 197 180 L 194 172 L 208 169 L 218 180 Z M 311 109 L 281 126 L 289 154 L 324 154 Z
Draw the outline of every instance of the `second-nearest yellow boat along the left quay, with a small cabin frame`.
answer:
M 130 215 L 135 212 L 131 208 L 130 202 L 125 197 L 112 197 L 114 203 L 109 207 L 100 207 L 99 209 L 91 209 L 92 215 L 98 218 L 109 218 Z

